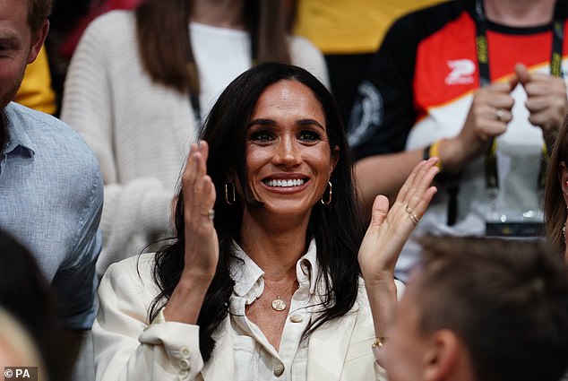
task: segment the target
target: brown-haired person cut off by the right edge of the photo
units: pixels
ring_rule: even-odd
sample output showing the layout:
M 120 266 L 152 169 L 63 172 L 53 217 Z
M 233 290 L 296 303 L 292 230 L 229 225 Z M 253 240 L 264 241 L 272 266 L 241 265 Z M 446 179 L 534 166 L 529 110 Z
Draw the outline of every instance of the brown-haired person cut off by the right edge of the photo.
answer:
M 568 118 L 558 131 L 546 169 L 545 225 L 546 237 L 564 255 L 566 248 L 566 221 L 568 221 Z

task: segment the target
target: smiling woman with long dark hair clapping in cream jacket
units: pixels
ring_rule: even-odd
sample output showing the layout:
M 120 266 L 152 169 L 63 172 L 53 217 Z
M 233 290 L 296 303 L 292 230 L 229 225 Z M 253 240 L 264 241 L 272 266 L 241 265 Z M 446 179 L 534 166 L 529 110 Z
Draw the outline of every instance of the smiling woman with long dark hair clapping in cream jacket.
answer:
M 241 74 L 201 138 L 185 164 L 176 241 L 111 265 L 101 281 L 97 379 L 381 377 L 372 344 L 392 320 L 394 263 L 435 194 L 436 160 L 417 166 L 388 214 L 377 197 L 361 244 L 339 111 L 306 70 Z

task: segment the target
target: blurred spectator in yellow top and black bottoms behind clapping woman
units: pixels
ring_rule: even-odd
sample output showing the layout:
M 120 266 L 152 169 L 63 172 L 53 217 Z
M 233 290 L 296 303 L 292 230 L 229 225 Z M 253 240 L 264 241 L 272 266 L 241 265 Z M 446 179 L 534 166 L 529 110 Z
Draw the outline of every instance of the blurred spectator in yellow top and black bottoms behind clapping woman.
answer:
M 331 92 L 347 124 L 357 86 L 385 31 L 403 13 L 442 0 L 290 0 L 296 3 L 293 30 L 322 50 Z

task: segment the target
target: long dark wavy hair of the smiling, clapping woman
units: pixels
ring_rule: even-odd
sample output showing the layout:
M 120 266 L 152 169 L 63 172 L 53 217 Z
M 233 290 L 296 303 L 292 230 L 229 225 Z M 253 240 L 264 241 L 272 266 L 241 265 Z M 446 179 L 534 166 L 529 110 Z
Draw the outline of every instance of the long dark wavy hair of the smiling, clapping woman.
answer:
M 237 198 L 229 205 L 224 196 L 225 184 L 233 180 L 242 185 L 248 184 L 245 165 L 247 126 L 262 91 L 280 81 L 301 82 L 313 91 L 325 113 L 330 148 L 339 147 L 339 160 L 331 174 L 333 200 L 329 205 L 314 205 L 307 228 L 306 247 L 314 238 L 318 265 L 322 269 L 317 282 L 326 292 L 322 296 L 321 313 L 307 327 L 304 339 L 319 326 L 348 313 L 357 299 L 360 273 L 357 251 L 364 227 L 357 218 L 353 161 L 337 105 L 323 84 L 302 68 L 275 63 L 256 65 L 238 76 L 223 91 L 202 130 L 201 138 L 210 146 L 207 172 L 217 192 L 214 225 L 219 237 L 219 264 L 197 320 L 200 349 L 205 361 L 210 359 L 215 346 L 211 334 L 228 316 L 228 299 L 235 285 L 229 274 L 232 242 L 239 241 L 244 206 L 262 207 L 247 186 L 242 190 L 243 199 Z M 154 281 L 161 292 L 151 305 L 151 319 L 171 296 L 184 268 L 184 197 L 181 189 L 178 196 L 176 241 L 156 254 Z

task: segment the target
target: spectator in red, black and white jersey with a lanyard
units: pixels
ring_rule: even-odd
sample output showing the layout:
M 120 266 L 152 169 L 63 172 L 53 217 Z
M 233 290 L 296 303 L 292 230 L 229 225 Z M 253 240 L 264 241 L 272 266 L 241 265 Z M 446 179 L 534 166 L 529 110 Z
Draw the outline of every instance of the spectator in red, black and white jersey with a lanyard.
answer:
M 349 122 L 364 208 L 436 156 L 440 192 L 414 238 L 542 238 L 546 161 L 568 110 L 567 16 L 565 0 L 453 0 L 395 22 Z M 419 256 L 414 238 L 402 280 Z

